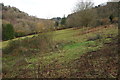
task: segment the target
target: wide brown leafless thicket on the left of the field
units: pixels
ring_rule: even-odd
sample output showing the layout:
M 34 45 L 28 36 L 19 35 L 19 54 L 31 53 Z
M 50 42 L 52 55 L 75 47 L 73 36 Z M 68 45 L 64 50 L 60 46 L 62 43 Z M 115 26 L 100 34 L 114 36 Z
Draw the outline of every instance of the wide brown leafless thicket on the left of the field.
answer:
M 32 38 L 25 38 L 21 40 L 11 40 L 3 53 L 44 53 L 50 52 L 54 48 L 52 34 L 40 34 Z

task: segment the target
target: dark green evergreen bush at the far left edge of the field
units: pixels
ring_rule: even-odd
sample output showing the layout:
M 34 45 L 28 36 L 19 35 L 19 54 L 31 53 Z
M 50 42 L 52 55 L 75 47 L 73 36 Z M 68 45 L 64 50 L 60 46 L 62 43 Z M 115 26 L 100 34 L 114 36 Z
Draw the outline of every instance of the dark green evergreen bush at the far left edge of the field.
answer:
M 14 28 L 12 24 L 2 24 L 2 40 L 14 38 Z

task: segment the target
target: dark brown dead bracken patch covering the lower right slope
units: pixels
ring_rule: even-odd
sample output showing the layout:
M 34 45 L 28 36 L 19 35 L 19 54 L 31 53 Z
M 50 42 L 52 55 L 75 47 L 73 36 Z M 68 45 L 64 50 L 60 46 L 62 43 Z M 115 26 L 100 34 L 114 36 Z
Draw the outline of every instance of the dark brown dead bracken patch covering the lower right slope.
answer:
M 104 44 L 100 50 L 83 54 L 72 63 L 71 65 L 77 69 L 77 72 L 71 74 L 73 77 L 116 78 L 118 74 L 117 37 L 113 38 L 112 42 Z

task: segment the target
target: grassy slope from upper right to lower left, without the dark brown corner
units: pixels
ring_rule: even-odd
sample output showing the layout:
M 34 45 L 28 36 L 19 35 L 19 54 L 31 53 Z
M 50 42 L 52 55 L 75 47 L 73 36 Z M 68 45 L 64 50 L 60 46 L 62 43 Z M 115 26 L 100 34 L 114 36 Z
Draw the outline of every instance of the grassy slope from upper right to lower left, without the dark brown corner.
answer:
M 98 33 L 102 35 L 102 39 L 86 41 Z M 39 69 L 38 65 L 40 67 L 39 77 L 71 77 L 71 74 L 78 70 L 71 65 L 74 60 L 79 59 L 84 53 L 100 50 L 104 47 L 104 43 L 111 42 L 111 38 L 107 36 L 112 34 L 114 37 L 117 33 L 118 29 L 114 26 L 55 31 L 54 40 L 62 45 L 62 49 L 45 54 L 32 54 L 29 57 L 4 54 L 3 70 L 6 73 L 4 77 L 37 77 L 35 71 L 38 70 L 35 69 Z M 7 45 L 8 42 L 3 44 Z

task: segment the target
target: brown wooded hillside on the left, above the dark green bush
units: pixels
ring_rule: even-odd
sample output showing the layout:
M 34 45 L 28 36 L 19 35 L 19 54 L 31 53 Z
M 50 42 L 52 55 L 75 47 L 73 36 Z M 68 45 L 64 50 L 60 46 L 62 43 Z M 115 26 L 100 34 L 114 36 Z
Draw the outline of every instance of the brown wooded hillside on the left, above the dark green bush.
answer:
M 2 14 L 3 24 L 12 24 L 17 33 L 31 34 L 54 26 L 53 20 L 29 16 L 16 7 L 4 6 L 4 4 L 2 4 Z

